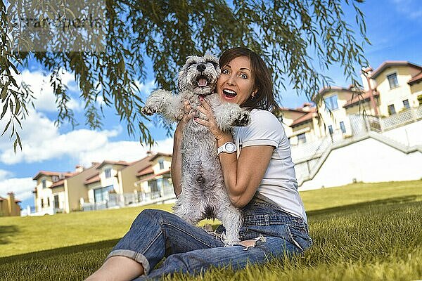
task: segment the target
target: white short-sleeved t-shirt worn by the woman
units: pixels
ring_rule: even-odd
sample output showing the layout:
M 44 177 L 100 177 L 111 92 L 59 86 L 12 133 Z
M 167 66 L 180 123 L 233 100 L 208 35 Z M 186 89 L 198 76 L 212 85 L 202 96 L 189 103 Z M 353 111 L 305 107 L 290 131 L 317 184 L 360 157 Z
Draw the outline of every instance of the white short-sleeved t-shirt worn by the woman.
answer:
M 279 204 L 281 209 L 307 221 L 305 208 L 298 192 L 295 164 L 290 157 L 290 144 L 279 120 L 269 111 L 254 109 L 248 126 L 234 127 L 237 155 L 242 148 L 271 145 L 273 154 L 257 192 Z

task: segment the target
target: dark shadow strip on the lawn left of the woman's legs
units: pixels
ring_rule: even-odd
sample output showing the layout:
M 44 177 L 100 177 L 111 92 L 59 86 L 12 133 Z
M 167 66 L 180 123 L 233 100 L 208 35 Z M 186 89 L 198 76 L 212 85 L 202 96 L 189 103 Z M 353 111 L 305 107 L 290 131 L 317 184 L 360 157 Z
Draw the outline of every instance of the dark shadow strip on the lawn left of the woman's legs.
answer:
M 81 251 L 89 251 L 92 249 L 111 249 L 112 247 L 117 244 L 119 239 L 113 240 L 105 240 L 100 242 L 93 242 L 88 244 L 80 244 L 75 246 L 63 247 L 63 248 L 56 248 L 44 251 L 34 251 L 32 253 L 27 254 L 18 254 L 15 256 L 4 256 L 0 258 L 0 265 L 5 263 L 12 263 L 15 261 L 26 261 L 30 259 L 38 259 L 38 258 L 45 258 L 46 256 L 53 257 L 53 256 L 61 256 L 63 254 L 75 254 Z

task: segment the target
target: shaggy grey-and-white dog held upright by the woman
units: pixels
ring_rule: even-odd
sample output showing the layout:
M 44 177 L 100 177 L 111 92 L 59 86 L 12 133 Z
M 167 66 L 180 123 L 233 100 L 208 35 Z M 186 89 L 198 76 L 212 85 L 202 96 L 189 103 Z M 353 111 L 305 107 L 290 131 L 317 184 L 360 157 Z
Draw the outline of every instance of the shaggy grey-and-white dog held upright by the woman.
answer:
M 158 90 L 151 93 L 142 112 L 159 112 L 167 121 L 174 122 L 184 115 L 184 101 L 193 109 L 200 105 L 200 96 L 212 108 L 217 126 L 229 131 L 233 126 L 245 126 L 250 114 L 237 104 L 224 103 L 213 93 L 220 69 L 213 55 L 190 56 L 179 72 L 179 94 Z M 196 117 L 205 119 L 201 112 Z M 227 195 L 222 167 L 217 155 L 217 141 L 206 126 L 194 120 L 186 124 L 181 143 L 181 195 L 174 205 L 174 214 L 193 225 L 203 218 L 218 218 L 226 228 L 226 244 L 239 241 L 243 219 Z

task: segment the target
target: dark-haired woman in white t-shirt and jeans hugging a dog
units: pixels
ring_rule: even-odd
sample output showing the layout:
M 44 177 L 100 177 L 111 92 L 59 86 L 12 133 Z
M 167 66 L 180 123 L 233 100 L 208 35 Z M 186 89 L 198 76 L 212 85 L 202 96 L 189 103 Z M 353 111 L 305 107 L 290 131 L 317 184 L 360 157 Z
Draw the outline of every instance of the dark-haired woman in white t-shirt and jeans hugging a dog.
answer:
M 222 152 L 219 160 L 229 198 L 243 211 L 241 240 L 248 240 L 244 244 L 252 247 L 224 247 L 219 237 L 174 214 L 145 210 L 88 280 L 155 279 L 168 273 L 194 274 L 210 266 L 229 264 L 232 268 L 244 268 L 248 262 L 262 263 L 274 256 L 300 253 L 312 244 L 288 139 L 278 119 L 268 111 L 277 105 L 267 66 L 248 48 L 225 51 L 219 64 L 219 97 L 248 108 L 250 125 L 236 127 L 233 136 L 220 131 L 204 100 L 197 110 L 207 115 L 207 120 L 195 121 L 207 126 L 219 147 L 236 144 L 236 153 Z M 190 112 L 188 103 L 185 109 Z M 174 132 L 172 180 L 177 196 L 181 192 L 182 131 L 194 115 L 186 114 Z M 167 259 L 161 268 L 153 269 L 164 256 Z

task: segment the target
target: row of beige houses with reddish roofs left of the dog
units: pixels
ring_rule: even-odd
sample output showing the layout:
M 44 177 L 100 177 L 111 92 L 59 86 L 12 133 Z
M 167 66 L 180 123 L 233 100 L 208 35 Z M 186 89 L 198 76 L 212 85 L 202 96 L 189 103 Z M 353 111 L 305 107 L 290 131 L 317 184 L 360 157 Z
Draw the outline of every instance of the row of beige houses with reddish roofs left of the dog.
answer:
M 172 188 L 170 164 L 171 155 L 157 153 L 135 162 L 106 160 L 88 168 L 78 165 L 72 172 L 39 171 L 33 178 L 37 181 L 33 191 L 36 212 L 79 211 L 84 204 L 108 202 L 112 194 L 162 194 L 168 186 Z

